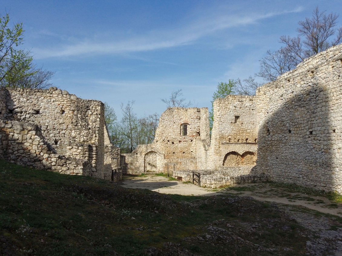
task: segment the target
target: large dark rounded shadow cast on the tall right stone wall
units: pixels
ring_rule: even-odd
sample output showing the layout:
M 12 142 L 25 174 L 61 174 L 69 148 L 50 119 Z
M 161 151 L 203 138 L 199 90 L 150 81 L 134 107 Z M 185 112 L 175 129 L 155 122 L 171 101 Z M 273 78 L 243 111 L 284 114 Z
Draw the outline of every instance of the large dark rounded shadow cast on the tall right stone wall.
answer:
M 263 109 L 266 117 L 267 111 L 270 114 L 258 131 L 258 159 L 253 169 L 268 174 L 272 181 L 341 193 L 337 189 L 341 181 L 333 179 L 339 173 L 333 164 L 338 153 L 333 150 L 336 128 L 330 120 L 333 113 L 330 112 L 329 92 L 324 86 L 314 84 L 291 97 L 291 93 L 299 89 L 288 87 L 289 91 L 285 91 L 277 89 L 276 85 L 272 87 L 273 95 L 266 94 L 270 97 L 266 100 L 270 108 L 276 104 L 279 107 L 276 106 L 274 112 Z M 283 102 L 282 93 L 284 98 L 290 96 Z

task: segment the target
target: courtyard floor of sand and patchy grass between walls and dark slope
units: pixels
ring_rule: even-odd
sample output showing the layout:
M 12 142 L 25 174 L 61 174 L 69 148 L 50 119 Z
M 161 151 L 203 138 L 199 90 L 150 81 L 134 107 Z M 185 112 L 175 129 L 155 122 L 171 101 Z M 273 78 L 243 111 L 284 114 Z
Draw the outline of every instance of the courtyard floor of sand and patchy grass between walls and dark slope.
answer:
M 184 196 L 214 196 L 238 195 L 250 196 L 256 200 L 298 205 L 323 213 L 342 217 L 342 203 L 336 202 L 313 193 L 304 191 L 290 191 L 288 187 L 275 186 L 273 183 L 252 183 L 234 185 L 222 189 L 207 189 L 196 185 L 170 180 L 164 176 L 153 175 L 124 175 L 122 186 L 127 188 L 141 188 L 162 194 L 177 194 Z

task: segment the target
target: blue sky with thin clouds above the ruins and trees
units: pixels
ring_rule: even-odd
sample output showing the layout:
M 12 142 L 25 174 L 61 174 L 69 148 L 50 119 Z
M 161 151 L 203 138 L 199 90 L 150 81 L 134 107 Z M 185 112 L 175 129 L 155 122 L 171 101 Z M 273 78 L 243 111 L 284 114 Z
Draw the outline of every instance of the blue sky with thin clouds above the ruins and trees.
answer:
M 55 86 L 108 102 L 120 117 L 129 100 L 138 116 L 161 114 L 160 99 L 177 89 L 210 108 L 219 82 L 258 72 L 316 6 L 342 25 L 342 0 L 1 0 L 0 13 L 23 23 L 24 47 L 55 72 Z

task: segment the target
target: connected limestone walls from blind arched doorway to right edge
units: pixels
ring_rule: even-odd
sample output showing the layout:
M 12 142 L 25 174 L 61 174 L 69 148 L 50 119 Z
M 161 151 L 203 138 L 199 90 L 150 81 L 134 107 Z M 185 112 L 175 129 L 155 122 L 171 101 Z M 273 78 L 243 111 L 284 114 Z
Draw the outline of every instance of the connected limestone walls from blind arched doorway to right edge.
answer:
M 269 179 L 342 193 L 341 66 L 338 45 L 253 97 L 215 100 L 211 140 L 207 109 L 167 109 L 155 141 L 126 154 L 125 168 L 165 173 L 174 163 L 175 177 L 202 170 L 208 187 Z

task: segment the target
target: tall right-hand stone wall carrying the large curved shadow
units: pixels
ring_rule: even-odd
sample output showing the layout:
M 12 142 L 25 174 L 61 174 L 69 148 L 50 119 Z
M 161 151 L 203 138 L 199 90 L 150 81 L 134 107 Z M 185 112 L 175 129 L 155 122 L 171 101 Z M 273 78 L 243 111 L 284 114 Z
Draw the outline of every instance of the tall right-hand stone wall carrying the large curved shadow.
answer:
M 255 168 L 277 182 L 342 193 L 342 45 L 257 90 Z

